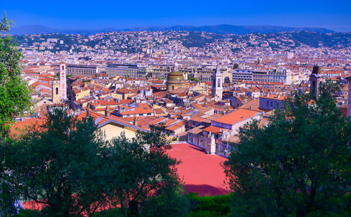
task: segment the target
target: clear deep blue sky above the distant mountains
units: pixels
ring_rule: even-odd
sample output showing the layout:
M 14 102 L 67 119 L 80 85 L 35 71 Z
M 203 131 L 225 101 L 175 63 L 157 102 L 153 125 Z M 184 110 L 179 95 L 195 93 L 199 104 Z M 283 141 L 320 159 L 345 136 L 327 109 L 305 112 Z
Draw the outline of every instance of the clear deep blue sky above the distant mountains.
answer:
M 351 0 L 4 0 L 2 11 L 15 19 L 17 26 L 39 24 L 58 29 L 230 24 L 325 27 L 351 32 Z

